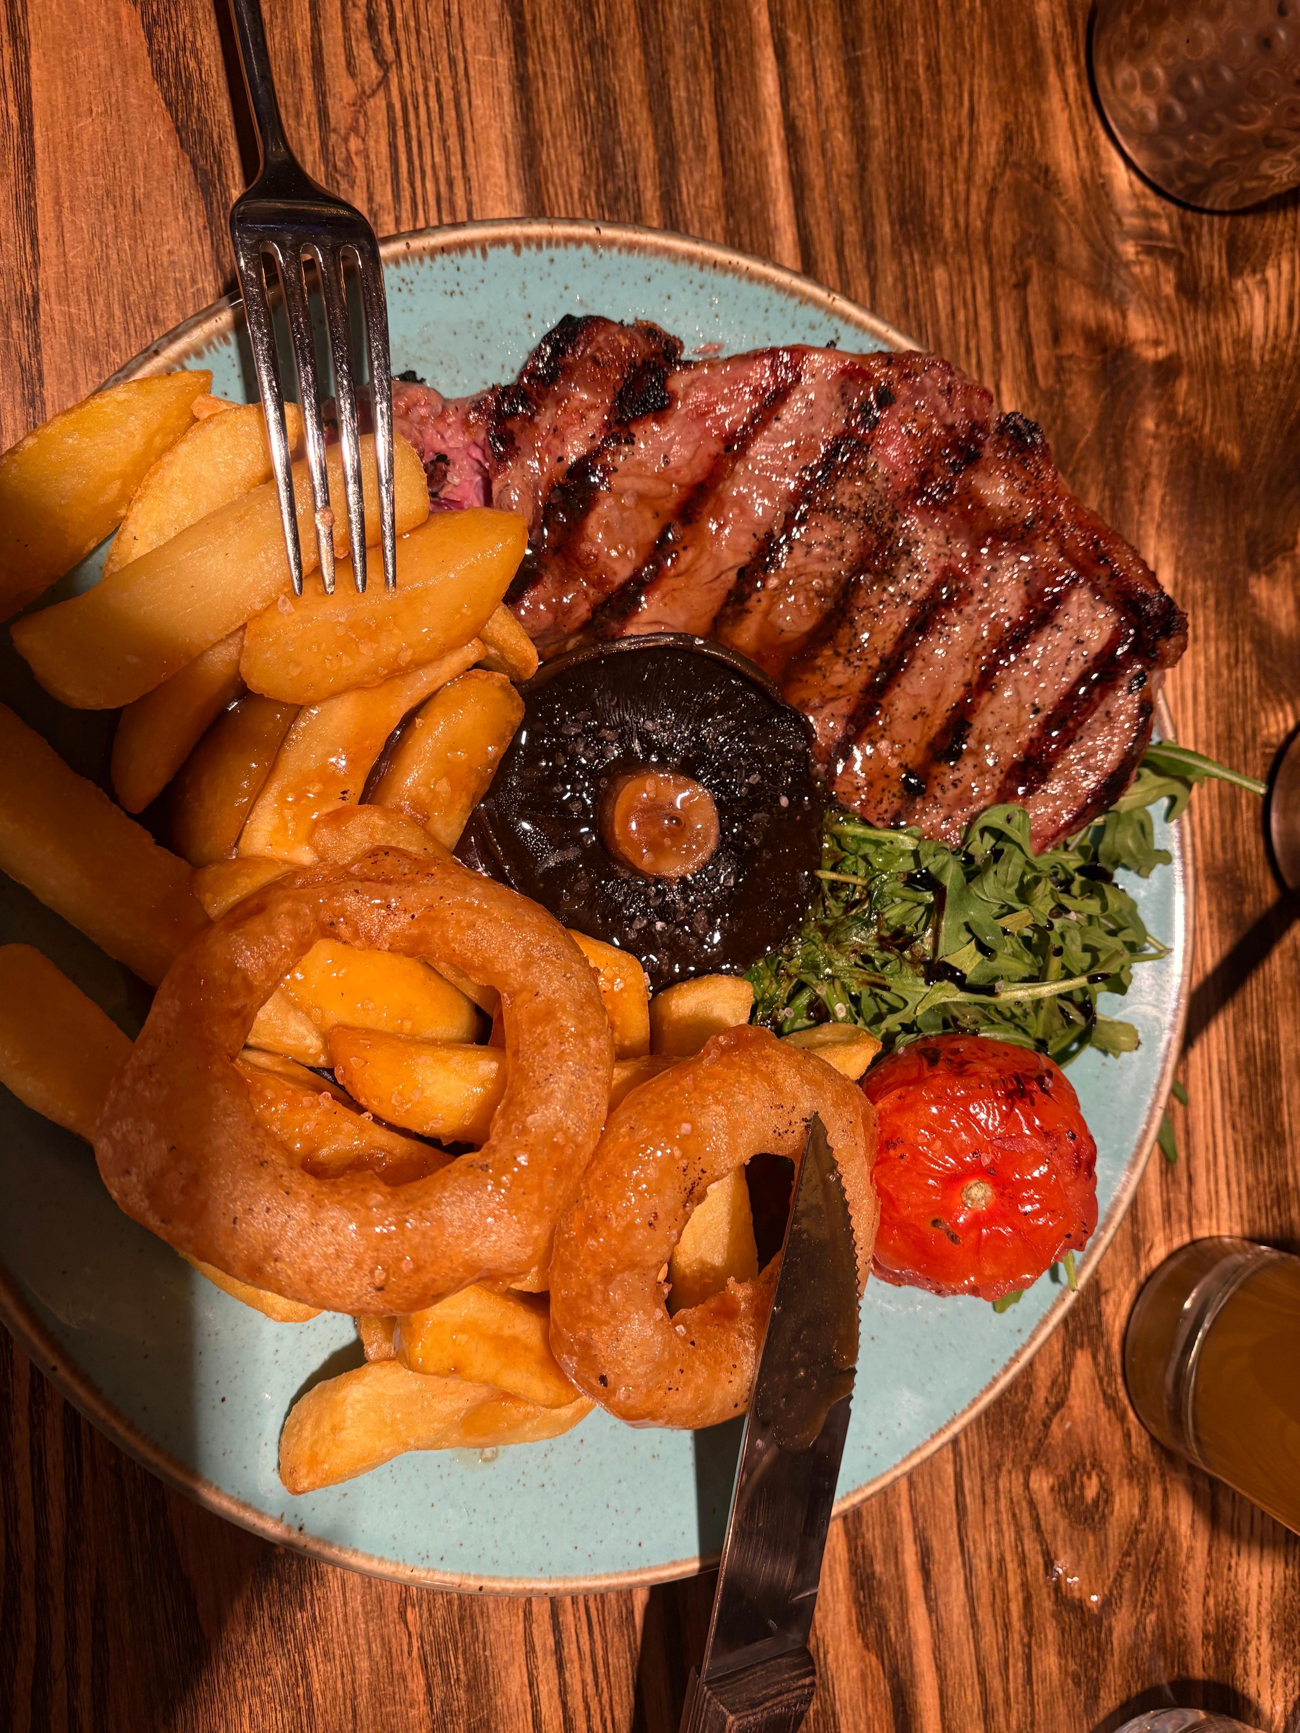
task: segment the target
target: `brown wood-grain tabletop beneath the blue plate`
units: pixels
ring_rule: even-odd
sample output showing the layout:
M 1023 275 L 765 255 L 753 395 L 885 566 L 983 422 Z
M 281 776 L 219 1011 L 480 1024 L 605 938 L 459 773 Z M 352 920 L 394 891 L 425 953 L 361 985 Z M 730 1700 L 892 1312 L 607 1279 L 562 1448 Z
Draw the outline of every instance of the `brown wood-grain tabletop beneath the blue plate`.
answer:
M 232 282 L 250 166 L 211 0 L 0 0 L 0 447 Z M 1153 194 L 1087 0 L 265 0 L 289 135 L 380 232 L 664 225 L 820 277 L 1038 419 L 1193 622 L 1179 737 L 1264 775 L 1300 719 L 1300 204 Z M 1300 1726 L 1300 1541 L 1161 1452 L 1120 1374 L 1186 1239 L 1300 1239 L 1300 972 L 1250 797 L 1198 794 L 1182 1158 L 962 1437 L 832 1529 L 813 1733 Z M 1290 1130 L 1290 1137 L 1288 1137 Z M 395 1587 L 166 1492 L 3 1338 L 5 1728 L 674 1730 L 707 1579 Z

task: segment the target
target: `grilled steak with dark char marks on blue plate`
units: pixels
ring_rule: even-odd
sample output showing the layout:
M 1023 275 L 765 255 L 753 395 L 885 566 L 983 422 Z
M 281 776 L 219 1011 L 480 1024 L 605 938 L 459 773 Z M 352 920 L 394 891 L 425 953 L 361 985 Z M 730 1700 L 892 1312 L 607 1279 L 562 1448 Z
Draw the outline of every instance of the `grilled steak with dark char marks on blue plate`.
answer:
M 683 362 L 655 326 L 565 319 L 513 385 L 404 390 L 435 504 L 529 520 L 508 601 L 544 655 L 718 638 L 811 719 L 835 799 L 946 842 L 1016 801 L 1047 847 L 1132 778 L 1184 617 L 948 362 Z

